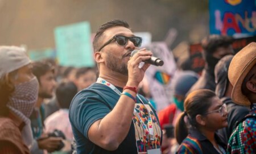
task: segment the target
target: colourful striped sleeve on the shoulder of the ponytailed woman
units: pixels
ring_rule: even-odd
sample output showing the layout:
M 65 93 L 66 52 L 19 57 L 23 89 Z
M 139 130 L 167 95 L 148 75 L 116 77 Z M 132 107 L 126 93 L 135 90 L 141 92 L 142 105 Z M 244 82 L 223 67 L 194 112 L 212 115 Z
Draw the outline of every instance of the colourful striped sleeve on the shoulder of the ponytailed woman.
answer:
M 203 150 L 199 140 L 192 138 L 191 136 L 187 136 L 187 138 L 182 141 L 177 153 L 203 154 Z

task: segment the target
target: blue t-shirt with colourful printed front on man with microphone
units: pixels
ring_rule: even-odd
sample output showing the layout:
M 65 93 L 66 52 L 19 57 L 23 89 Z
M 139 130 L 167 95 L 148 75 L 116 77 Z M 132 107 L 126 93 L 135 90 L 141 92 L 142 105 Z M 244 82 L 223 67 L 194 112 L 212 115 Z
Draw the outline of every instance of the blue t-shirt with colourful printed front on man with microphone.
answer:
M 122 92 L 122 88 L 117 88 Z M 104 118 L 114 108 L 118 102 L 120 95 L 115 93 L 106 85 L 95 83 L 86 88 L 73 98 L 69 108 L 69 120 L 71 122 L 73 135 L 77 144 L 77 153 L 145 153 L 146 148 L 152 147 L 143 131 L 142 125 L 137 116 L 133 116 L 133 120 L 127 121 L 131 123 L 130 130 L 123 142 L 115 151 L 106 151 L 98 145 L 92 143 L 88 139 L 88 130 L 90 126 L 99 119 Z M 139 111 L 139 115 L 147 124 L 148 112 L 151 115 L 154 126 L 155 145 L 160 145 L 162 140 L 162 131 L 159 126 L 158 118 L 155 110 L 148 104 L 148 101 L 140 95 L 143 105 L 137 98 L 135 110 Z M 147 110 L 146 110 L 146 108 Z M 148 112 L 147 112 L 148 111 Z M 115 120 L 115 119 L 113 119 Z

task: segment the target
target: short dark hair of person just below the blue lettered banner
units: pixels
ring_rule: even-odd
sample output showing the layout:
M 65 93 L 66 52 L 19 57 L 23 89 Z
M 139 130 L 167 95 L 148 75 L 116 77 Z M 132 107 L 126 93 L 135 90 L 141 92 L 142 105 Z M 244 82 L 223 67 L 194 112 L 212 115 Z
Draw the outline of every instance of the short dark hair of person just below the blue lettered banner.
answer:
M 212 55 L 219 47 L 228 47 L 233 43 L 230 36 L 209 35 L 201 41 L 205 53 Z

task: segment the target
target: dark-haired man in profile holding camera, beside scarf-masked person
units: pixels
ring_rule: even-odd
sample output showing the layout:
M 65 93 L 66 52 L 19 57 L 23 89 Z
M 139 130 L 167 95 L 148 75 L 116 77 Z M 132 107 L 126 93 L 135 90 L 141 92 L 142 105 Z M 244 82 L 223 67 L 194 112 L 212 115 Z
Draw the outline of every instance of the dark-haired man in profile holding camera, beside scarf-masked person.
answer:
M 48 152 L 53 152 L 58 149 L 61 138 L 49 137 L 43 133 L 44 127 L 44 98 L 52 98 L 53 90 L 55 89 L 56 82 L 54 77 L 54 68 L 50 63 L 35 62 L 32 63 L 32 73 L 35 74 L 39 81 L 38 100 L 32 112 L 31 127 L 32 133 L 37 144 L 32 147 L 31 153 L 43 153 L 45 149 Z

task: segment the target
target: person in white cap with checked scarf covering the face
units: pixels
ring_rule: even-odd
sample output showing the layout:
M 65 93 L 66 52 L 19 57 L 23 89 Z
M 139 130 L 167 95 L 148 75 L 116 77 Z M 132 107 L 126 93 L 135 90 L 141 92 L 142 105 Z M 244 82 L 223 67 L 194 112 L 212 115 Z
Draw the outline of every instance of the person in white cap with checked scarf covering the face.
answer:
M 0 46 L 0 153 L 30 153 L 38 80 L 26 50 Z

